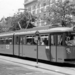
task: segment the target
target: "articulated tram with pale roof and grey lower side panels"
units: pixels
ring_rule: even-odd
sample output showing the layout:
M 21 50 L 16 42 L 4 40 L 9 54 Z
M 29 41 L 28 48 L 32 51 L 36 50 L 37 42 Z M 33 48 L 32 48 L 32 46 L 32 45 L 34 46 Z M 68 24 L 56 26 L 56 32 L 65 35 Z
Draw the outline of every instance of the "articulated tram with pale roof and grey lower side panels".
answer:
M 0 54 L 54 63 L 75 62 L 75 27 L 34 27 L 0 34 Z

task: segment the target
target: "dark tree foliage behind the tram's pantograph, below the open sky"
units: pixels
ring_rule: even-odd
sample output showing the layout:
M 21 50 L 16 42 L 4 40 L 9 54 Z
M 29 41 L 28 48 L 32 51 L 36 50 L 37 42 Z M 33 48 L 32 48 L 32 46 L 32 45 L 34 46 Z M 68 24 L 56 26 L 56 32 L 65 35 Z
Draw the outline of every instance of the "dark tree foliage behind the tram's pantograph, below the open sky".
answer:
M 0 22 L 2 31 L 15 31 L 24 28 L 35 27 L 36 17 L 29 12 L 15 14 L 12 17 L 3 18 Z

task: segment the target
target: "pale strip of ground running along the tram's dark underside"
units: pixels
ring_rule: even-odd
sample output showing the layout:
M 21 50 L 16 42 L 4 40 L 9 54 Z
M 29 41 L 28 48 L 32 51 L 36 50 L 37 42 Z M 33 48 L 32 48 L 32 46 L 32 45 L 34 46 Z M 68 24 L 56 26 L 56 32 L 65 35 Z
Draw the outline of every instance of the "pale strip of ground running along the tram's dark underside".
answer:
M 36 63 L 28 60 L 22 60 L 12 57 L 5 57 L 0 56 L 0 59 L 13 62 L 15 64 L 23 65 L 23 66 L 31 66 L 40 70 L 44 70 L 44 72 L 54 72 L 57 75 L 75 75 L 75 69 L 74 68 L 67 68 L 67 67 L 58 67 L 58 66 L 52 66 L 47 65 L 43 63 Z

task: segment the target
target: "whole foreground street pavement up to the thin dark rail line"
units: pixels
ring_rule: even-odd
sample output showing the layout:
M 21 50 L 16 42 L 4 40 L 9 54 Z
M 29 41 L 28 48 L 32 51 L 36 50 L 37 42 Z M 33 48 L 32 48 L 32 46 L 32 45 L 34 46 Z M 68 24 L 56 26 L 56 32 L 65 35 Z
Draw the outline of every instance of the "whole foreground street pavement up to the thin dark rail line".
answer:
M 62 75 L 0 59 L 0 75 Z M 63 74 L 64 75 L 64 74 Z

